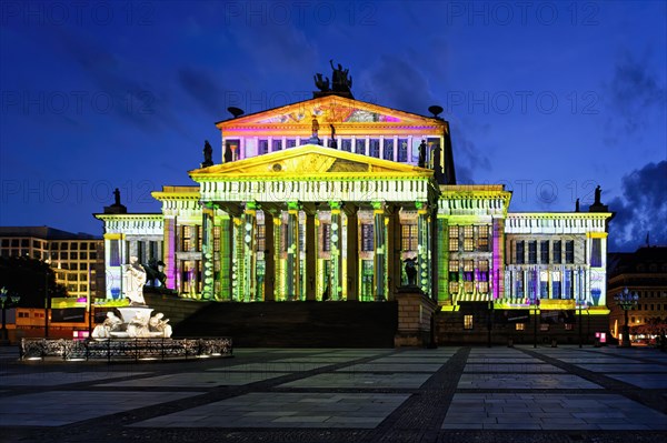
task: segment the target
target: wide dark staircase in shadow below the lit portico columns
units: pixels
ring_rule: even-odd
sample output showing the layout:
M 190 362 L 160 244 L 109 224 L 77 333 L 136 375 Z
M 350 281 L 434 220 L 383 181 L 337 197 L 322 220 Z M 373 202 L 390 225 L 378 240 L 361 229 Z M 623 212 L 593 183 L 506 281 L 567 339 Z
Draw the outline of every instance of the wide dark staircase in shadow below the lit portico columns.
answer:
M 392 348 L 396 302 L 202 303 L 175 338 L 231 336 L 235 346 Z

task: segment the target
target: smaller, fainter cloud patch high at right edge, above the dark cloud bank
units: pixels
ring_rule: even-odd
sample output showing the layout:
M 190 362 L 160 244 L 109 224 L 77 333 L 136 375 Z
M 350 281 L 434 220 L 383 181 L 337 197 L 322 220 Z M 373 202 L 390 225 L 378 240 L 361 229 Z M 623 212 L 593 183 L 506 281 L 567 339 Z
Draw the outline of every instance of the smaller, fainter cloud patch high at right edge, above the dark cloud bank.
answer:
M 606 123 L 606 140 L 610 144 L 640 132 L 650 124 L 651 112 L 664 108 L 665 85 L 646 59 L 637 60 L 633 53 L 624 52 L 616 62 L 611 81 L 605 85 L 606 104 L 614 114 Z

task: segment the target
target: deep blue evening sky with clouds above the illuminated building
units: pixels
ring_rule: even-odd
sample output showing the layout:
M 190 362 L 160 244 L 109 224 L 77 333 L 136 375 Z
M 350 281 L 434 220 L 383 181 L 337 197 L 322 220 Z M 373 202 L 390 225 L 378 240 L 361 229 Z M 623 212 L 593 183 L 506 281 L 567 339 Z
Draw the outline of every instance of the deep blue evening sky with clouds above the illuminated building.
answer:
M 119 188 L 192 184 L 213 122 L 311 98 L 445 108 L 460 183 L 511 211 L 617 212 L 611 250 L 667 244 L 664 1 L 0 2 L 0 225 L 100 234 Z

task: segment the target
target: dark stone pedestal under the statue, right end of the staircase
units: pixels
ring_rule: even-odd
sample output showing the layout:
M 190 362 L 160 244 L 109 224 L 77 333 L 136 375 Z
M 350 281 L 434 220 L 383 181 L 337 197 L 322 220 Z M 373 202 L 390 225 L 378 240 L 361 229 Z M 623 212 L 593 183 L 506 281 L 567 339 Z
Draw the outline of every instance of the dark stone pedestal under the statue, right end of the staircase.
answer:
M 398 302 L 398 330 L 394 345 L 435 346 L 432 343 L 431 322 L 438 304 L 429 299 L 417 286 L 399 288 L 395 294 Z M 434 331 L 435 332 L 435 331 Z

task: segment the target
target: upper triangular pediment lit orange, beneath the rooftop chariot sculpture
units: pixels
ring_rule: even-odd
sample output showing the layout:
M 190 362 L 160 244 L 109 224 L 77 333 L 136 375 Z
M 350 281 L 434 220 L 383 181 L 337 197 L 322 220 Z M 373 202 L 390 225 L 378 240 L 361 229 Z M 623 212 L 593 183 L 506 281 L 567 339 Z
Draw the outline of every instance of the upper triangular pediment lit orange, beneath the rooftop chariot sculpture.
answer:
M 444 123 L 441 120 L 434 118 L 380 107 L 365 101 L 339 95 L 327 95 L 225 120 L 218 122 L 217 127 L 225 131 L 226 129 L 241 127 L 310 125 L 313 118 L 317 118 L 323 131 L 328 131 L 327 125 L 329 124 L 397 123 L 402 125 L 440 125 Z

